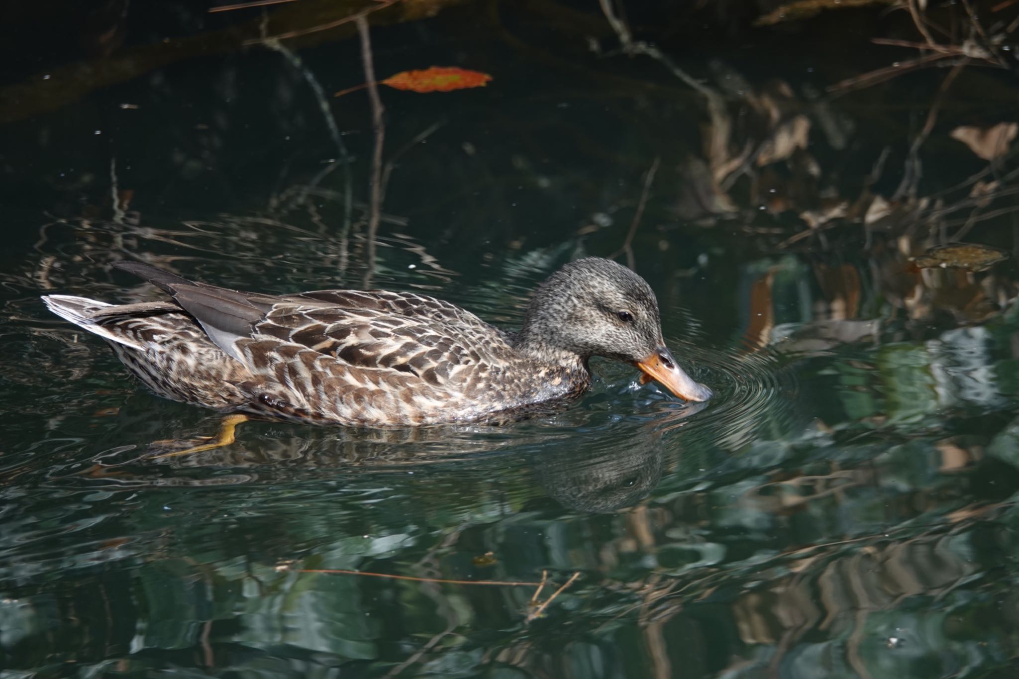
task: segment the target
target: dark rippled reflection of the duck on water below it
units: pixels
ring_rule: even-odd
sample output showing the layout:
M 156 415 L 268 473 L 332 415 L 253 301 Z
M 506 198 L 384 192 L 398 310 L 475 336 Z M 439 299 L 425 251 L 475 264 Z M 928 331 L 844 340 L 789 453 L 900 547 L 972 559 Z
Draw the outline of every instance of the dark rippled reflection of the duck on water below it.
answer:
M 537 431 L 301 428 L 293 436 L 280 436 L 282 432 L 273 425 L 262 423 L 273 428 L 266 436 L 248 435 L 216 450 L 160 458 L 158 454 L 165 451 L 158 447 L 123 445 L 93 455 L 72 469 L 51 469 L 47 476 L 61 486 L 85 480 L 90 486 L 126 489 L 258 485 L 335 478 L 344 472 L 407 473 L 425 466 L 434 471 L 441 468 L 443 475 L 463 471 L 476 477 L 483 471 L 491 477 L 502 476 L 507 467 L 524 467 L 538 480 L 530 488 L 543 490 L 565 508 L 605 513 L 633 506 L 654 490 L 662 474 L 663 440 L 668 439 L 668 448 L 674 450 L 674 430 L 685 426 L 705 404 L 673 405 L 636 427 L 587 432 L 568 427 Z

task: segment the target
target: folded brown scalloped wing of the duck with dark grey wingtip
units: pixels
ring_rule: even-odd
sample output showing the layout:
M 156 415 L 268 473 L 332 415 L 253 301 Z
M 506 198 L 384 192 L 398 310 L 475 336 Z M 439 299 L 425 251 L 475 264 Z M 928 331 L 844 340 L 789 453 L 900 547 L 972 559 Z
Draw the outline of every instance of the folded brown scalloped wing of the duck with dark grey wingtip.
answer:
M 443 387 L 489 373 L 512 352 L 501 331 L 427 295 L 317 290 L 273 296 L 193 283 L 148 265 L 121 268 L 169 292 L 217 346 L 273 381 L 293 382 L 280 367 L 289 362 L 333 377 L 355 369 L 352 380 L 376 386 L 378 376 L 363 371 L 399 378 L 401 386 Z

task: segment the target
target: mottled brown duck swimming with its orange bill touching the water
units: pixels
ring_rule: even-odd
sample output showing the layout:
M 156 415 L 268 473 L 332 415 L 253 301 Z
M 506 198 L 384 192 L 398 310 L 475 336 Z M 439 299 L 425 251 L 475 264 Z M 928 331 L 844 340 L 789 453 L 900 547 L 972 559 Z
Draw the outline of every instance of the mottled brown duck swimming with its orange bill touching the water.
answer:
M 106 340 L 157 395 L 224 414 L 379 429 L 504 423 L 578 399 L 594 356 L 630 363 L 642 384 L 687 401 L 712 396 L 665 345 L 651 286 L 610 260 L 562 266 L 537 287 L 519 331 L 417 292 L 270 295 L 114 266 L 170 298 L 42 299 Z

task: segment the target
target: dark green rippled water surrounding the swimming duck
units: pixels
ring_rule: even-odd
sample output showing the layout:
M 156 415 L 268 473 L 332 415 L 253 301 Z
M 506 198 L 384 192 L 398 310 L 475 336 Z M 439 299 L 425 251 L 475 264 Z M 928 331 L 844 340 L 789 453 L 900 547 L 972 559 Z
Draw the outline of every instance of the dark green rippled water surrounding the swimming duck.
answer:
M 112 57 L 54 41 L 6 82 L 158 44 L 154 26 L 240 20 L 167 6 L 132 10 Z M 950 132 L 1008 122 L 1015 76 L 963 70 L 922 179 L 897 194 L 947 69 L 826 101 L 890 53 L 811 44 L 808 63 L 781 34 L 711 53 L 664 36 L 726 102 L 730 156 L 758 154 L 715 190 L 703 98 L 648 57 L 591 52 L 589 34 L 616 43 L 591 7 L 570 11 L 588 22 L 467 3 L 373 29 L 380 77 L 494 75 L 381 92 L 374 234 L 368 99 L 328 96 L 364 80 L 356 37 L 296 45 L 300 68 L 209 48 L 52 110 L 0 90 L 0 676 L 1015 676 L 1015 265 L 907 260 L 964 227 L 1013 248 L 1011 154 L 988 168 Z M 783 152 L 797 116 L 808 144 Z M 218 417 L 149 395 L 39 300 L 160 298 L 110 266 L 139 259 L 266 292 L 423 290 L 512 328 L 562 263 L 620 249 L 652 165 L 633 263 L 674 353 L 716 393 L 704 405 L 600 361 L 551 417 L 250 422 L 227 448 L 153 459 Z M 1001 197 L 966 203 L 995 179 Z M 838 227 L 789 242 L 840 200 Z M 423 579 L 303 572 L 321 569 Z M 531 620 L 534 586 L 436 581 L 543 571 L 538 602 L 579 575 Z

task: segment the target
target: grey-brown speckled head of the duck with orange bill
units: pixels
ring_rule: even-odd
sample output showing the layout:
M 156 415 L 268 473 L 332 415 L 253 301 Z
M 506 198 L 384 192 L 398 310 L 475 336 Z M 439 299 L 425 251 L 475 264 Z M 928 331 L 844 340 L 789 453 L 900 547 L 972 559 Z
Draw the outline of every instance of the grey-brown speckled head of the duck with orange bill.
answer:
M 546 360 L 614 358 L 680 398 L 711 398 L 711 390 L 684 373 L 665 346 L 651 286 L 610 260 L 571 262 L 542 283 L 528 305 L 519 346 Z

